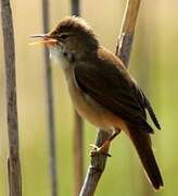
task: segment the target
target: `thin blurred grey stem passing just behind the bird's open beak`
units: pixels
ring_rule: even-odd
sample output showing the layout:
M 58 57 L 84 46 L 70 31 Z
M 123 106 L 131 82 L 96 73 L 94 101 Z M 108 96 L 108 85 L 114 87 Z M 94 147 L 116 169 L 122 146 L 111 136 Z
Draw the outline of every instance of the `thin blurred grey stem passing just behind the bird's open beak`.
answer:
M 42 0 L 42 26 L 43 26 L 43 32 L 47 33 L 49 30 L 49 0 Z M 44 48 L 43 58 L 44 58 L 46 87 L 47 87 L 47 109 L 48 109 L 47 115 L 48 115 L 49 150 L 50 150 L 51 195 L 58 196 L 52 73 L 50 66 L 49 51 L 47 48 Z

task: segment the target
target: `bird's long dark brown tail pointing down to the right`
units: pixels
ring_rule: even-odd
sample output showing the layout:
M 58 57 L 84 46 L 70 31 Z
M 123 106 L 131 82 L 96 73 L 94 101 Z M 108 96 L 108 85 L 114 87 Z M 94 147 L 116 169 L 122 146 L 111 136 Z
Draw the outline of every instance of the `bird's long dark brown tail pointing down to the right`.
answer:
M 163 186 L 163 180 L 151 148 L 151 139 L 149 134 L 143 131 L 136 130 L 132 125 L 128 125 L 128 131 L 129 137 L 131 138 L 139 154 L 140 160 L 150 182 L 155 189 L 161 188 Z

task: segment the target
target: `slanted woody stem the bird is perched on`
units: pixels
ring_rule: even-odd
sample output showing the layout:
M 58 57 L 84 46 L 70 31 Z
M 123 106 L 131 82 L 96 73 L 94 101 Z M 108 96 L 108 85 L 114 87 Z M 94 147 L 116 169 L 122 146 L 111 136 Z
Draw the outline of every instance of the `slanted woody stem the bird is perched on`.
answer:
M 126 68 L 128 66 L 130 58 L 139 4 L 140 0 L 127 0 L 122 30 L 116 46 L 116 56 L 123 60 Z M 109 134 L 106 132 L 99 131 L 96 145 L 101 146 Z M 104 171 L 106 160 L 105 156 L 91 158 L 80 196 L 92 196 L 94 194 L 97 185 Z

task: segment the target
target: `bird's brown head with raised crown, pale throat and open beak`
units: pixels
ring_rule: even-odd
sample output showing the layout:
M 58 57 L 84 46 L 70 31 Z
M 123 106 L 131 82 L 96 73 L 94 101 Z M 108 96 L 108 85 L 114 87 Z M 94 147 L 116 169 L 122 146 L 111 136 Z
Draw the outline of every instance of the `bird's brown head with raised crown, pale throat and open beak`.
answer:
M 96 52 L 99 42 L 91 27 L 80 17 L 71 16 L 62 20 L 59 25 L 48 34 L 33 35 L 41 37 L 49 49 L 51 57 L 69 58 L 73 54 L 76 59 L 87 58 Z

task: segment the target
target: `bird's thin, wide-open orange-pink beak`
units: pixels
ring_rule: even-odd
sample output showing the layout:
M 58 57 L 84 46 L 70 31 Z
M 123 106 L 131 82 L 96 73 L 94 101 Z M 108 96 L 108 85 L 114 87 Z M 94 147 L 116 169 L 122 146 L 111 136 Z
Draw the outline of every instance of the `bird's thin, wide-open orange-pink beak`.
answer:
M 48 34 L 37 34 L 37 35 L 30 35 L 31 38 L 42 38 L 42 40 L 40 41 L 35 41 L 35 42 L 30 42 L 29 45 L 33 46 L 33 45 L 39 45 L 39 44 L 44 44 L 47 46 L 51 46 L 55 42 L 58 42 L 56 39 L 50 37 L 50 35 Z

